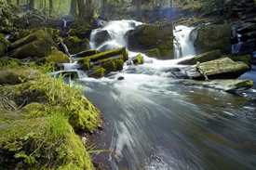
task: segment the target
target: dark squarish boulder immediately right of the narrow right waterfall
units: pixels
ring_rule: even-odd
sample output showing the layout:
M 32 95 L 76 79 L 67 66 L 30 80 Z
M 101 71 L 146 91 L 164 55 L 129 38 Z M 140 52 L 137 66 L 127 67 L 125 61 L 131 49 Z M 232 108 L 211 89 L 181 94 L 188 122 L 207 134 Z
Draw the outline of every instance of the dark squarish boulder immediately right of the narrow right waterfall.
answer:
M 202 54 L 210 50 L 220 49 L 222 54 L 231 52 L 231 25 L 207 25 L 195 28 L 195 51 Z

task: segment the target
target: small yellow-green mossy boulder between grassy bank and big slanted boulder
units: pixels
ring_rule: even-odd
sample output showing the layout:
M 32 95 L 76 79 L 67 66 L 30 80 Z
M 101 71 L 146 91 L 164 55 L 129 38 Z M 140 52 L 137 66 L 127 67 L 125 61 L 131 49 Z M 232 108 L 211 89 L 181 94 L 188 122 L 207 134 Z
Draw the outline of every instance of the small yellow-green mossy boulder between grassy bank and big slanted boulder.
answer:
M 59 63 L 69 63 L 70 59 L 62 51 L 57 51 L 57 52 L 49 55 L 48 57 L 44 57 L 44 58 L 41 58 L 41 59 L 38 59 L 38 60 L 35 61 L 36 64 L 50 63 L 50 62 L 57 65 Z

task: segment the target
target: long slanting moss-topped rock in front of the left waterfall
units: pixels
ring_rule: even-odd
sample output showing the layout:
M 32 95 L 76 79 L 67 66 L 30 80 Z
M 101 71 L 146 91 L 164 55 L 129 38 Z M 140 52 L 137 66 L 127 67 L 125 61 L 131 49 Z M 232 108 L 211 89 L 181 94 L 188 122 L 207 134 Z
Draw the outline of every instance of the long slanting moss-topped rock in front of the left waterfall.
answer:
M 125 60 L 125 61 L 128 60 L 128 51 L 126 50 L 126 46 L 120 47 L 118 49 L 111 50 L 111 51 L 101 52 L 101 53 L 95 54 L 93 56 L 90 56 L 89 58 L 92 61 L 96 61 L 99 59 L 113 58 L 113 57 L 119 56 L 119 55 L 122 55 L 123 60 Z

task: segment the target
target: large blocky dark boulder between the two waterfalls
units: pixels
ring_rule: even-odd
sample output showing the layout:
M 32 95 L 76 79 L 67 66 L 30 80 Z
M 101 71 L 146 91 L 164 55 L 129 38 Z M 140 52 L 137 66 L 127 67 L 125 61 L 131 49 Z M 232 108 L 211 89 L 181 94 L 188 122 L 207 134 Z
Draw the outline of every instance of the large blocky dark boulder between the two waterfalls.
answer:
M 152 50 L 156 48 L 160 59 L 174 59 L 173 28 L 171 22 L 154 25 L 141 25 L 129 31 L 128 48 L 133 51 Z M 156 57 L 156 56 L 154 56 Z

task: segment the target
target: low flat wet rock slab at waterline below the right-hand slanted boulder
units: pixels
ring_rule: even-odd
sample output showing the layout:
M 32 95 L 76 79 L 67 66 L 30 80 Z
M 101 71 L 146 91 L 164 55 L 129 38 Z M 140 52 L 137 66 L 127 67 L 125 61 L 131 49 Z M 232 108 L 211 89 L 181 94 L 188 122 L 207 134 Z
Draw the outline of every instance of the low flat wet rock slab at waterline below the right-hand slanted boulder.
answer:
M 182 80 L 182 85 L 194 85 L 203 86 L 214 89 L 220 89 L 226 92 L 243 91 L 252 87 L 253 81 L 251 80 L 208 80 L 208 81 L 194 81 L 194 80 Z

